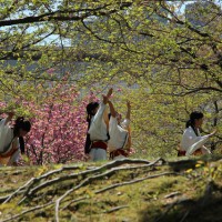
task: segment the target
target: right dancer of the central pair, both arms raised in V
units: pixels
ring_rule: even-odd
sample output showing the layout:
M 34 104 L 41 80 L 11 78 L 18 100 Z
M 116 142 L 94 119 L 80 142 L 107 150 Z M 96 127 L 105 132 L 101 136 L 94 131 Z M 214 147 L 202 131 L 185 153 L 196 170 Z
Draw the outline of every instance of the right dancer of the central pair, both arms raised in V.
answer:
M 128 111 L 127 117 L 121 122 L 122 117 L 114 109 L 111 101 L 108 101 L 110 107 L 110 122 L 109 122 L 109 134 L 110 140 L 108 141 L 108 150 L 110 152 L 111 160 L 124 159 L 129 155 L 131 147 L 131 135 L 130 135 L 130 102 L 127 102 Z

